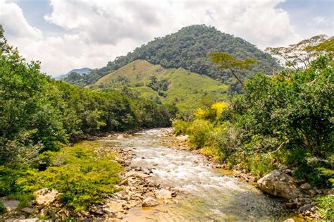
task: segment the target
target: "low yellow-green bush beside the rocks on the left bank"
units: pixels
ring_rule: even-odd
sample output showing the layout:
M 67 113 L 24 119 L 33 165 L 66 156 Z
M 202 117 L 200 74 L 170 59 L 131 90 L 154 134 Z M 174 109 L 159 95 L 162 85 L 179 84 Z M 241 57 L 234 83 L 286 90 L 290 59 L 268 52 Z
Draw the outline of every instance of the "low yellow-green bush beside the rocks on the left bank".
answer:
M 121 166 L 113 160 L 115 154 L 78 144 L 44 155 L 44 159 L 49 159 L 45 171 L 26 171 L 18 179 L 24 192 L 44 187 L 56 189 L 66 205 L 81 211 L 116 191 L 113 185 L 118 181 Z

